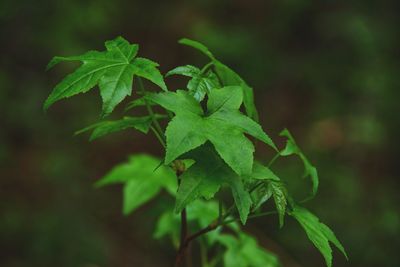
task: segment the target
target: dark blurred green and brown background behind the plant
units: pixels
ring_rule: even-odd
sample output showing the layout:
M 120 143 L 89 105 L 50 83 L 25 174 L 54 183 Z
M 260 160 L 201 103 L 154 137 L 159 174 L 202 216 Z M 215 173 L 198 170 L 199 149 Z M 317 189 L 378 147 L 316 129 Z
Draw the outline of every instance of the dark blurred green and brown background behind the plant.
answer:
M 308 207 L 350 256 L 335 252 L 334 266 L 400 266 L 399 8 L 395 0 L 1 0 L 0 266 L 173 261 L 169 243 L 150 238 L 157 201 L 123 217 L 120 188 L 92 187 L 129 153 L 161 156 L 156 139 L 129 131 L 94 143 L 73 137 L 98 119 L 97 90 L 41 109 L 74 67 L 44 72 L 53 55 L 102 49 L 117 35 L 139 43 L 163 73 L 205 63 L 179 38 L 207 44 L 255 88 L 271 136 L 288 127 L 319 168 L 319 195 Z M 304 190 L 300 164 L 279 164 Z M 258 219 L 245 230 L 284 266 L 323 266 L 291 220 L 278 230 Z

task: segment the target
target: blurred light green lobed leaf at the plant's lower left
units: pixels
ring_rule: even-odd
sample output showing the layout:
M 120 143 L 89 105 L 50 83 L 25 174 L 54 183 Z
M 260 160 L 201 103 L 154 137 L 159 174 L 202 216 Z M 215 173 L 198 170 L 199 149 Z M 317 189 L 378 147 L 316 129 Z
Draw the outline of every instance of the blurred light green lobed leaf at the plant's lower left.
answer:
M 176 175 L 171 168 L 159 165 L 160 160 L 149 155 L 134 155 L 100 179 L 96 186 L 124 184 L 125 215 L 155 197 L 162 188 L 175 194 Z M 156 169 L 156 170 L 155 170 Z

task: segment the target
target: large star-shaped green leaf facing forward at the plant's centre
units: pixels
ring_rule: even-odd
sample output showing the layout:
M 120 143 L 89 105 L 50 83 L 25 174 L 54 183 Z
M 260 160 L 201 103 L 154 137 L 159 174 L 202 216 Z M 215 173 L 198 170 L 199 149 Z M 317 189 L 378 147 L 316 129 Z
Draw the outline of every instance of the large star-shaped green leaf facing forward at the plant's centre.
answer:
M 148 97 L 176 114 L 166 130 L 166 164 L 209 140 L 237 174 L 245 175 L 251 173 L 254 146 L 244 133 L 269 145 L 273 144 L 256 122 L 238 111 L 243 99 L 239 87 L 212 90 L 206 115 L 203 115 L 200 104 L 185 91 L 152 94 Z M 224 119 L 225 116 L 231 120 Z

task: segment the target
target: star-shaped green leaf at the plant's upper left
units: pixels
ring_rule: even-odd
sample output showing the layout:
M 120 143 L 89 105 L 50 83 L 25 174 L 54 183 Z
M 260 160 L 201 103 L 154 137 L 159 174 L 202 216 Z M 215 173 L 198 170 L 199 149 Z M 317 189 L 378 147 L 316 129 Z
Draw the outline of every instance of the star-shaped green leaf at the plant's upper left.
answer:
M 54 57 L 47 68 L 62 61 L 81 61 L 82 65 L 67 75 L 53 89 L 44 103 L 48 109 L 55 102 L 85 93 L 99 85 L 103 101 L 102 115 L 108 115 L 126 96 L 131 95 L 133 75 L 145 77 L 166 90 L 157 63 L 135 58 L 139 46 L 122 37 L 105 42 L 106 51 L 89 51 L 80 56 Z

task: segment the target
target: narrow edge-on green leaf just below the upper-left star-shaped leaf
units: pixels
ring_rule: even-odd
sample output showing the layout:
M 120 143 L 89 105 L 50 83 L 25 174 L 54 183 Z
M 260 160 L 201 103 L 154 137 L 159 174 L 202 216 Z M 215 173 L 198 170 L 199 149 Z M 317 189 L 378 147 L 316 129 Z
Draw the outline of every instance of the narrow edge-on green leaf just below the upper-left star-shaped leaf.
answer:
M 156 114 L 156 118 L 164 118 L 164 116 Z M 117 131 L 122 131 L 125 129 L 133 128 L 139 130 L 143 133 L 147 133 L 152 123 L 151 116 L 145 117 L 124 117 L 121 120 L 114 121 L 102 121 L 93 125 L 90 125 L 82 130 L 77 131 L 75 134 L 81 134 L 87 131 L 92 131 L 90 135 L 90 141 L 100 138 L 104 135 L 114 133 Z

